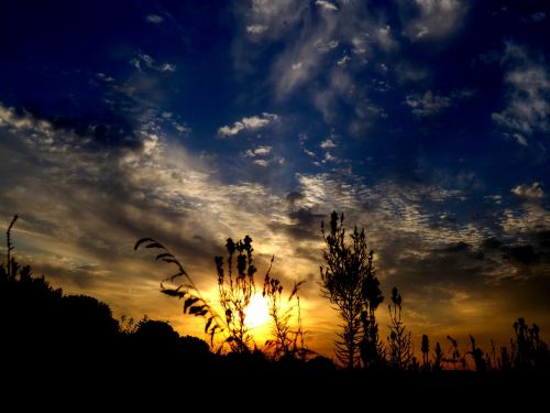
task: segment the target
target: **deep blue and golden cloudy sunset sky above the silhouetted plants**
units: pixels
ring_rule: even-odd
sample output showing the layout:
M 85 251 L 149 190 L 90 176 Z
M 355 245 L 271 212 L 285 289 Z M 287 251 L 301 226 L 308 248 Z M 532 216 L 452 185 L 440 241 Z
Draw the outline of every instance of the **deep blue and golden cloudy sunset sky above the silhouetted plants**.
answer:
M 321 220 L 365 228 L 385 302 L 428 334 L 550 330 L 546 1 L 12 1 L 0 13 L 0 225 L 20 261 L 114 315 L 201 324 L 163 296 L 173 251 L 211 300 L 226 239 L 258 289 L 301 290 L 332 355 Z M 4 249 L 2 249 L 4 251 Z M 262 341 L 258 339 L 258 341 Z M 260 343 L 262 344 L 262 343 Z M 446 346 L 448 343 L 446 343 Z

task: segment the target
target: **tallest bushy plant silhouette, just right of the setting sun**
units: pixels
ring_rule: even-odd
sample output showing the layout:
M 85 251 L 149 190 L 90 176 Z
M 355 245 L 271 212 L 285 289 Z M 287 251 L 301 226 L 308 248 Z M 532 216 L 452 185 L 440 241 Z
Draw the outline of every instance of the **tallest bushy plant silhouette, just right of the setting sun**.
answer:
M 324 231 L 324 222 L 321 222 L 326 243 L 324 265 L 320 268 L 321 291 L 338 308 L 343 320 L 336 340 L 336 355 L 341 363 L 352 369 L 359 366 L 364 332 L 371 337 L 376 330 L 377 337 L 374 311 L 383 297 L 380 293 L 373 294 L 372 286 L 377 287 L 377 280 L 373 276 L 373 251 L 367 247 L 364 229 L 359 231 L 355 227 L 350 241 L 346 241 L 343 221 L 343 214 L 339 218 L 333 211 L 328 232 Z M 370 301 L 373 295 L 375 297 Z

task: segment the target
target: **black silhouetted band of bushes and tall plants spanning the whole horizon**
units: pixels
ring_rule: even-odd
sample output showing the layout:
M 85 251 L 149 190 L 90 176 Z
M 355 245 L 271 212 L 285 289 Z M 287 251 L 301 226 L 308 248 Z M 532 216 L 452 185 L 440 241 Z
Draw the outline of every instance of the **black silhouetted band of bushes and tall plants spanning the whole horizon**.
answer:
M 262 276 L 272 338 L 262 349 L 256 347 L 245 314 L 256 292 L 257 273 L 250 237 L 237 242 L 229 239 L 227 258 L 215 258 L 216 306 L 204 298 L 183 264 L 162 243 L 145 238 L 135 246 L 158 251 L 156 260 L 175 269 L 162 282 L 161 292 L 182 300 L 184 313 L 204 323 L 205 340 L 182 337 L 168 323 L 146 316 L 138 322 L 116 319 L 107 304 L 52 287 L 44 276 L 35 276 L 29 265 L 15 259 L 11 230 L 16 219 L 8 228 L 6 257 L 0 264 L 0 351 L 4 374 L 11 371 L 22 381 L 32 378 L 46 383 L 52 374 L 67 381 L 99 374 L 102 383 L 114 387 L 187 383 L 242 392 L 242 396 L 251 389 L 276 393 L 282 382 L 288 389 L 315 385 L 332 394 L 352 388 L 385 389 L 387 383 L 386 390 L 408 385 L 433 392 L 459 383 L 463 385 L 460 391 L 481 394 L 487 383 L 501 388 L 541 383 L 535 378 L 546 378 L 549 371 L 549 350 L 539 327 L 524 318 L 513 324 L 509 347 L 496 349 L 493 344 L 485 351 L 471 336 L 470 345 L 462 349 L 449 336 L 451 350 L 444 352 L 447 346 L 433 345 L 424 335 L 418 344 L 421 360 L 417 359 L 397 287 L 387 307 L 389 335 L 382 340 L 376 312 L 384 297 L 375 276 L 374 252 L 367 248 L 363 230 L 355 228 L 346 236 L 344 217 L 336 213 L 330 228 L 322 230 L 326 249 L 320 285 L 342 319 L 334 350 L 338 365 L 308 349 L 300 312 L 301 283 L 285 294 L 282 282 L 271 274 L 273 259 Z M 526 374 L 532 380 L 525 381 Z M 518 377 L 521 379 L 509 380 Z

